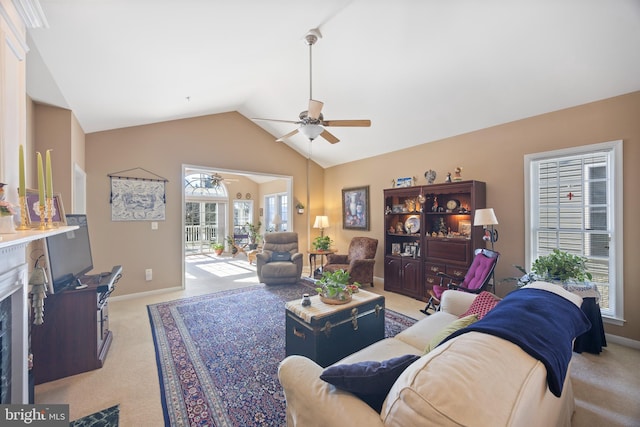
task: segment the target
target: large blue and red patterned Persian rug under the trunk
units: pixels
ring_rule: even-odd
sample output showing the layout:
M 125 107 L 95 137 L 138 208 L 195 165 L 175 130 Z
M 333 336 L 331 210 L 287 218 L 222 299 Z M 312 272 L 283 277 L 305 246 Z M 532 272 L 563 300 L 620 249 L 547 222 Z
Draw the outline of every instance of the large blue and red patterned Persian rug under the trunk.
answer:
M 286 301 L 309 285 L 257 285 L 148 306 L 167 426 L 283 426 Z M 415 319 L 385 310 L 385 335 Z

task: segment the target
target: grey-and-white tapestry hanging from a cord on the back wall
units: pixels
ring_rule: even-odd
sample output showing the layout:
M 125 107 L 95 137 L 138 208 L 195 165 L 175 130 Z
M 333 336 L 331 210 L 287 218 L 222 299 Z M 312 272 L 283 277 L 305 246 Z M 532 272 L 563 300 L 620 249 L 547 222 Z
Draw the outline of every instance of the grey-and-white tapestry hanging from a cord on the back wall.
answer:
M 134 170 L 154 178 L 118 176 Z M 110 173 L 112 221 L 164 221 L 167 202 L 166 178 L 143 168 Z

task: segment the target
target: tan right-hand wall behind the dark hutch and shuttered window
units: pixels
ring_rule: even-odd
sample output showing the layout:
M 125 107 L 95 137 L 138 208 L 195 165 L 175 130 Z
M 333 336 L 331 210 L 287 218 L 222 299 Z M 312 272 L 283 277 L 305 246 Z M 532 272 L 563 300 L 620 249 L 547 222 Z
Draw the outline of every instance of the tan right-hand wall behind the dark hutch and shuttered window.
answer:
M 436 182 L 447 172 L 463 167 L 464 179 L 487 183 L 487 206 L 495 209 L 500 237 L 496 250 L 502 257 L 497 279 L 518 274 L 513 265 L 524 264 L 524 155 L 613 140 L 624 141 L 624 292 L 625 326 L 606 325 L 614 335 L 640 340 L 640 277 L 637 240 L 640 238 L 640 92 L 528 118 L 477 132 L 397 151 L 383 156 L 329 168 L 325 171 L 325 210 L 332 226 L 327 233 L 345 251 L 355 235 L 384 239 L 382 190 L 392 179 L 416 176 L 425 184 L 424 172 L 434 169 Z M 348 144 L 348 141 L 341 143 Z M 380 171 L 372 175 L 370 171 Z M 341 189 L 370 186 L 371 231 L 342 230 Z M 375 275 L 383 277 L 383 253 L 378 250 Z M 503 283 L 506 294 L 512 284 Z

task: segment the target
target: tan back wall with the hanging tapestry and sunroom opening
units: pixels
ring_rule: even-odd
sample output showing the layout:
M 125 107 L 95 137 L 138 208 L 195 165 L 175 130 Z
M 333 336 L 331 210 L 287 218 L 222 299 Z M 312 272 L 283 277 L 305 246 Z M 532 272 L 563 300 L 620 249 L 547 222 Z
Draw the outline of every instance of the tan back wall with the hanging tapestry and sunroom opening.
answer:
M 87 214 L 93 258 L 98 271 L 115 264 L 123 266 L 117 295 L 181 286 L 183 164 L 292 176 L 294 200 L 307 198 L 307 160 L 238 113 L 86 135 Z M 156 231 L 146 221 L 111 221 L 107 175 L 132 168 L 144 168 L 169 180 L 166 221 L 160 222 Z M 313 163 L 310 171 L 315 180 L 312 200 L 319 205 L 324 172 Z M 230 188 L 234 195 L 233 186 Z M 308 247 L 307 216 L 294 215 L 293 220 L 304 250 Z M 151 282 L 144 280 L 146 268 L 153 269 Z

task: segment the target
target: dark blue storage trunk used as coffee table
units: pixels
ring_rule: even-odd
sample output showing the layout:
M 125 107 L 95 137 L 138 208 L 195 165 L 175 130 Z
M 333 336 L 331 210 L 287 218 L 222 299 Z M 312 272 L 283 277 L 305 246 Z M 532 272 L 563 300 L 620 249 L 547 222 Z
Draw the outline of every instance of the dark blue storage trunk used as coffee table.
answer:
M 301 295 L 302 297 L 302 295 Z M 331 305 L 311 297 L 285 304 L 286 355 L 298 354 L 326 367 L 384 338 L 385 300 L 368 291 L 353 294 L 347 304 Z

